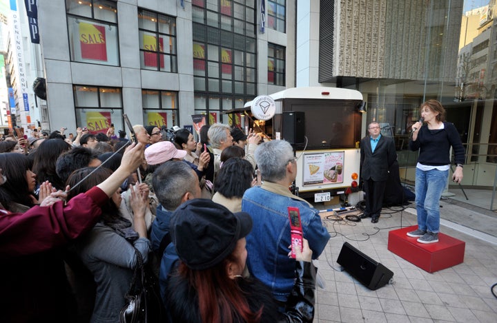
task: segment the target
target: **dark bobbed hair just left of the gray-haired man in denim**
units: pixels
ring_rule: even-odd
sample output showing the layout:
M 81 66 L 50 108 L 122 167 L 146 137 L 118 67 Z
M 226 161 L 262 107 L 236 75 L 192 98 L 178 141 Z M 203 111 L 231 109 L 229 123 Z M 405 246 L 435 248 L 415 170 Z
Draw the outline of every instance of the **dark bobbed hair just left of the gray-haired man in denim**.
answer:
M 214 189 L 226 198 L 242 198 L 252 179 L 253 167 L 248 160 L 229 158 L 217 173 Z

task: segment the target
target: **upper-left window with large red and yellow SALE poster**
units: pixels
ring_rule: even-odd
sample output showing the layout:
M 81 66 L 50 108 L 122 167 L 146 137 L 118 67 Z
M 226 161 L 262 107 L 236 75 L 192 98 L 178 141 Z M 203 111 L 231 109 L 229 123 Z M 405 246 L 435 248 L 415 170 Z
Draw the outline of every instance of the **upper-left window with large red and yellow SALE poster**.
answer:
M 119 65 L 115 1 L 66 1 L 71 61 Z

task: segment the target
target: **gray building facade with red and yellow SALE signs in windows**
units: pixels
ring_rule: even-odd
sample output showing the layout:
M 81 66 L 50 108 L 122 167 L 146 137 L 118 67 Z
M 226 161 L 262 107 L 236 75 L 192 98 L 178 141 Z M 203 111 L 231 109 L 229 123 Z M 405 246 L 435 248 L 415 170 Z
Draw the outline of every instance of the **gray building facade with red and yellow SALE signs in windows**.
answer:
M 256 0 L 39 1 L 50 128 L 240 122 L 223 112 L 294 86 L 294 8 L 266 1 L 262 32 Z

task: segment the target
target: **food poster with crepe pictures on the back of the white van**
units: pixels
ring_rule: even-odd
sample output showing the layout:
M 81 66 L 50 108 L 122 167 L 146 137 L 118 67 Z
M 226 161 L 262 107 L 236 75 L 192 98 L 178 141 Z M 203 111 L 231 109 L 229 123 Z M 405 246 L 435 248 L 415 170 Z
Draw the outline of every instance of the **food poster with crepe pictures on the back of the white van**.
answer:
M 345 152 L 304 154 L 304 185 L 343 183 Z

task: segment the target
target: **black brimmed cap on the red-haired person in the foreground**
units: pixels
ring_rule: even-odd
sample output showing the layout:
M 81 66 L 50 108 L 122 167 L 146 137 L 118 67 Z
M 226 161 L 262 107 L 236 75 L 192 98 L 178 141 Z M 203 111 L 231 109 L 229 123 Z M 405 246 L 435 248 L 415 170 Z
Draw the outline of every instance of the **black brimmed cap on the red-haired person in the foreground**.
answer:
M 186 266 L 203 270 L 229 256 L 252 230 L 249 213 L 231 213 L 212 200 L 197 198 L 180 205 L 170 219 L 171 238 Z

